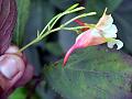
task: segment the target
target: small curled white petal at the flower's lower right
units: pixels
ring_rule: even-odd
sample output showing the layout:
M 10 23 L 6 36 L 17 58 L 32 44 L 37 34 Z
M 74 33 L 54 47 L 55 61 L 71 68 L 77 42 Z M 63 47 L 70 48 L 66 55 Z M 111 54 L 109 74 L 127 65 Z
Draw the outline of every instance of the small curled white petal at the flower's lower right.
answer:
M 121 47 L 123 47 L 123 43 L 120 40 L 114 40 L 112 42 L 108 42 L 108 47 L 109 48 L 113 48 L 113 46 L 117 44 L 117 50 L 120 50 Z

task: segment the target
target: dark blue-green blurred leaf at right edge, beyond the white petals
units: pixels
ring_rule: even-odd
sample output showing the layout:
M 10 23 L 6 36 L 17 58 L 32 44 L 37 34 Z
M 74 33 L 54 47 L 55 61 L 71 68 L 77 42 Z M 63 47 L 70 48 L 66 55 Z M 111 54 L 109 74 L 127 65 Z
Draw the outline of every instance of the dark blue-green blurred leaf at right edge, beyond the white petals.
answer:
M 127 53 L 132 54 L 132 0 L 121 3 L 120 8 L 114 12 L 114 21 L 119 29 L 118 36 L 124 43 L 123 50 Z M 124 8 L 125 7 L 125 8 Z

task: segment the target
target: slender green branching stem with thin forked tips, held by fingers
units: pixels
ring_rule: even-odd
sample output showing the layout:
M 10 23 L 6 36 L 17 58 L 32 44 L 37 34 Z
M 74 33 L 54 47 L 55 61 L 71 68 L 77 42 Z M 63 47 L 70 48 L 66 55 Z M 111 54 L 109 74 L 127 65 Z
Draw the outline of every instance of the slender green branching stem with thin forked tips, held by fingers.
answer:
M 94 15 L 94 14 L 96 14 L 96 12 L 85 13 L 85 14 L 78 15 L 78 16 L 69 20 L 68 22 L 62 24 L 59 28 L 53 29 L 53 26 L 56 24 L 56 22 L 57 22 L 62 16 L 64 16 L 65 14 L 74 13 L 74 12 L 77 12 L 77 11 L 80 11 L 80 10 L 84 10 L 84 9 L 85 9 L 84 7 L 76 8 L 77 6 L 78 6 L 78 4 L 75 4 L 75 6 L 70 7 L 69 9 L 67 9 L 66 11 L 64 11 L 63 13 L 59 13 L 59 14 L 55 15 L 55 16 L 47 23 L 47 25 L 42 30 L 41 33 L 37 31 L 37 37 L 36 37 L 35 40 L 33 40 L 32 42 L 30 42 L 29 44 L 26 44 L 25 46 L 23 46 L 19 52 L 22 52 L 22 51 L 24 51 L 25 48 L 30 47 L 31 45 L 40 42 L 41 40 L 43 40 L 43 38 L 44 38 L 45 36 L 47 36 L 48 34 L 62 30 L 63 28 L 65 28 L 67 24 L 69 24 L 70 22 L 73 22 L 73 21 L 76 20 L 76 19 L 84 18 L 84 16 L 87 16 L 87 15 Z M 53 29 L 53 30 L 52 30 L 52 29 Z M 77 29 L 81 29 L 81 28 L 80 28 L 80 26 L 77 26 L 77 28 L 65 28 L 65 29 L 63 29 L 63 30 L 77 30 Z

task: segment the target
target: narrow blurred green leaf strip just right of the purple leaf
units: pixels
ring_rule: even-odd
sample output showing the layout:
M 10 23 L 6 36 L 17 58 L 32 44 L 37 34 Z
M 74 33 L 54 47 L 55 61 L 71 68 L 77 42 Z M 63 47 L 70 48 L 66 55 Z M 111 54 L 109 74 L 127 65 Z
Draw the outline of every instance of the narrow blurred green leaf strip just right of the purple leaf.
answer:
M 13 42 L 19 46 L 22 46 L 31 1 L 16 0 L 16 4 L 18 4 L 18 21 L 16 21 L 15 34 L 13 36 L 14 37 Z

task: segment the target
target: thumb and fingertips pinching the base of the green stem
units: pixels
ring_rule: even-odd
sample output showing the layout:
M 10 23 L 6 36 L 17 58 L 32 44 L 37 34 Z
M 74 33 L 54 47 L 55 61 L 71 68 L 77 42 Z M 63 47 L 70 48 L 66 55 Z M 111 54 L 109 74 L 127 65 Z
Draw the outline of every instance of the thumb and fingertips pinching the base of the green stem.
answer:
M 7 97 L 18 87 L 25 85 L 33 77 L 33 66 L 16 46 L 10 46 L 0 56 L 0 99 Z

